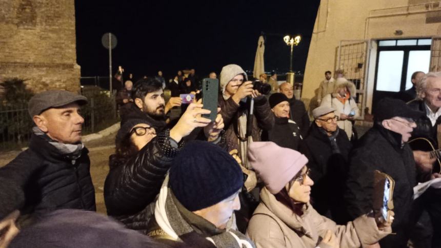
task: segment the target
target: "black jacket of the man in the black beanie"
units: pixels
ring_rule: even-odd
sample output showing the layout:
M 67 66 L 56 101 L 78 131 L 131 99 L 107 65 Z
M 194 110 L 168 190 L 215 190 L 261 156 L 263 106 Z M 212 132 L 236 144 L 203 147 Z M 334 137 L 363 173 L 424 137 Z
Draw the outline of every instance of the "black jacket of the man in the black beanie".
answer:
M 271 114 L 274 115 L 273 113 Z M 274 116 L 274 126 L 271 130 L 262 132 L 262 141 L 272 141 L 279 147 L 298 150 L 298 145 L 302 141 L 302 135 L 294 121 Z

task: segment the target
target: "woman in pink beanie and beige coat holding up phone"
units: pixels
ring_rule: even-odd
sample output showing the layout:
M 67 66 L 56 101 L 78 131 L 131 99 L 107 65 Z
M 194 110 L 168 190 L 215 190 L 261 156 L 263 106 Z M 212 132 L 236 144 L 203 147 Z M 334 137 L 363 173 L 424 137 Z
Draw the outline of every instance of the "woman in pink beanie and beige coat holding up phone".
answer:
M 378 227 L 368 215 L 337 225 L 318 214 L 309 203 L 314 182 L 303 154 L 273 142 L 253 142 L 248 159 L 265 183 L 247 230 L 257 248 L 366 247 L 391 233 L 391 222 Z

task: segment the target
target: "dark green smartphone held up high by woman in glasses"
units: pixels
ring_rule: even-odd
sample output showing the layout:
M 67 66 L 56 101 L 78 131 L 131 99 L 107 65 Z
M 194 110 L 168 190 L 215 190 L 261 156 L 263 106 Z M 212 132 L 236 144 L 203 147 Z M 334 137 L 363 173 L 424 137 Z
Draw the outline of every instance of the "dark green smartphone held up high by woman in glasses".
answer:
M 216 120 L 217 116 L 217 97 L 219 93 L 219 80 L 217 78 L 204 78 L 202 80 L 202 104 L 204 109 L 211 111 L 210 114 L 203 115 L 203 117 Z

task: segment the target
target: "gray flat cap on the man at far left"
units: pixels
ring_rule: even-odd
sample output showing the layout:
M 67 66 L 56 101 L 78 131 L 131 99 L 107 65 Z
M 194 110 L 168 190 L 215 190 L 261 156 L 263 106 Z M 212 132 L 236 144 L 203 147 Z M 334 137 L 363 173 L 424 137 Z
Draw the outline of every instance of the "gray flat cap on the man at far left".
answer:
M 29 115 L 34 117 L 50 108 L 62 107 L 72 102 L 86 105 L 87 98 L 65 90 L 48 90 L 34 95 L 28 103 Z

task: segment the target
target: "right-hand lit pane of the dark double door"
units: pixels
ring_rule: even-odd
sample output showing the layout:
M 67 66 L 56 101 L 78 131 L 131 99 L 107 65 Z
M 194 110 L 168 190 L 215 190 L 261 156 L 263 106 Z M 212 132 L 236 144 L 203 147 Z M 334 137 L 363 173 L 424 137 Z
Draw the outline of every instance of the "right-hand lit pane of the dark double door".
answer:
M 422 71 L 427 73 L 429 71 L 430 51 L 410 51 L 409 62 L 407 65 L 406 76 L 406 90 L 412 88 L 412 73 Z

